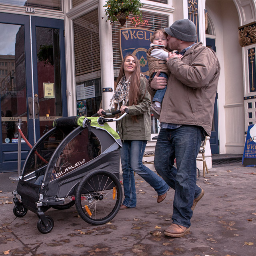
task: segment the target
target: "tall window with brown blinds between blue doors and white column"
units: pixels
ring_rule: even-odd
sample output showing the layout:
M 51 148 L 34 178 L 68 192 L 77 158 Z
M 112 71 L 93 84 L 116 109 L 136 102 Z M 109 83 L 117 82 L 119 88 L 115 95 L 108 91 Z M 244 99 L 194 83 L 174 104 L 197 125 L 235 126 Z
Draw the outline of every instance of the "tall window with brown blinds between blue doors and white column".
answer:
M 98 9 L 74 19 L 73 24 L 77 106 L 85 102 L 83 115 L 91 116 L 101 102 Z

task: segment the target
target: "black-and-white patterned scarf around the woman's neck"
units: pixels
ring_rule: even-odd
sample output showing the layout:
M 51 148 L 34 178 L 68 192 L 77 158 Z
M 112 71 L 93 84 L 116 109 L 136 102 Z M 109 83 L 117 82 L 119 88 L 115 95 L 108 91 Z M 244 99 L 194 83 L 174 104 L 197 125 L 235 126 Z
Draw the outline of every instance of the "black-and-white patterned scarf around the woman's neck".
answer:
M 130 78 L 126 80 L 125 76 L 121 78 L 118 85 L 116 86 L 116 90 L 114 95 L 110 100 L 110 107 L 115 108 L 115 104 L 117 104 L 117 109 L 119 110 L 121 106 L 126 106 L 129 100 L 129 88 L 130 88 Z

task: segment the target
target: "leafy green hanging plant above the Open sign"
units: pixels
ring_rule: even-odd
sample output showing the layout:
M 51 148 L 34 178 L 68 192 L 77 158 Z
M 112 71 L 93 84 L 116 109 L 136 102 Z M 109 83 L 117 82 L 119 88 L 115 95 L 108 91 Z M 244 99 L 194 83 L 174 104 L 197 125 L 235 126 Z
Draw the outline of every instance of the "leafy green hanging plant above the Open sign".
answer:
M 140 10 L 142 3 L 140 0 L 108 0 L 103 7 L 106 7 L 106 21 L 109 20 L 110 23 L 119 21 L 124 26 L 130 15 L 142 22 L 142 11 Z

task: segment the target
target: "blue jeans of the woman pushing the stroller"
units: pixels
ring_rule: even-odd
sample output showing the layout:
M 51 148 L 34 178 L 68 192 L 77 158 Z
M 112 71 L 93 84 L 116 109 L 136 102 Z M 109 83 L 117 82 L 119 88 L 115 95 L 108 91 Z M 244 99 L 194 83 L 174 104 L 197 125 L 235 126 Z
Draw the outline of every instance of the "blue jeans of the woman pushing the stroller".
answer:
M 136 188 L 134 172 L 140 175 L 150 186 L 156 190 L 158 196 L 166 193 L 169 186 L 155 172 L 142 164 L 143 154 L 146 148 L 146 140 L 124 140 L 120 149 L 121 164 L 124 183 L 124 202 L 129 208 L 136 206 Z

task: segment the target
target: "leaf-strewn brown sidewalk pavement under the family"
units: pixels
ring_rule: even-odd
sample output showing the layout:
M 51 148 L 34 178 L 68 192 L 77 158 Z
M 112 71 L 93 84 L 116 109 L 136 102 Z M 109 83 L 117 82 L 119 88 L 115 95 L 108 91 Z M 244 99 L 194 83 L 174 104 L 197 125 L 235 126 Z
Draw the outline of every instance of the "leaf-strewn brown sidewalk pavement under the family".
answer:
M 51 208 L 47 215 L 54 228 L 41 234 L 36 214 L 14 216 L 11 191 L 17 182 L 8 179 L 14 173 L 0 174 L 0 255 L 255 256 L 256 169 L 234 164 L 209 171 L 198 178 L 205 194 L 194 210 L 190 233 L 182 238 L 164 235 L 172 223 L 174 191 L 158 204 L 156 192 L 138 175 L 136 208 L 120 210 L 101 226 L 78 218 L 75 206 Z

